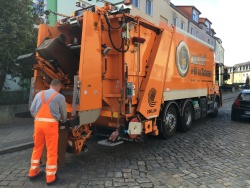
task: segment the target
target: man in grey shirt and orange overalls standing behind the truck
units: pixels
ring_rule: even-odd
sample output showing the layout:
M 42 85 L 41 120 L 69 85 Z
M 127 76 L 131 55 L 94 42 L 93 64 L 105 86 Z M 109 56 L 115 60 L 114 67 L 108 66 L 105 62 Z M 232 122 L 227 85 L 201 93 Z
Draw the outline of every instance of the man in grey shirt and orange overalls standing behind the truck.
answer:
M 40 171 L 40 158 L 44 144 L 47 147 L 46 183 L 52 185 L 58 179 L 58 137 L 59 120 L 63 123 L 67 120 L 65 97 L 59 93 L 61 81 L 54 79 L 50 83 L 50 89 L 40 91 L 36 94 L 30 113 L 34 117 L 34 148 L 31 156 L 29 179 L 34 180 L 44 175 Z

